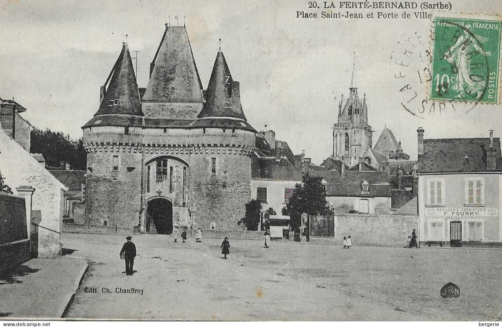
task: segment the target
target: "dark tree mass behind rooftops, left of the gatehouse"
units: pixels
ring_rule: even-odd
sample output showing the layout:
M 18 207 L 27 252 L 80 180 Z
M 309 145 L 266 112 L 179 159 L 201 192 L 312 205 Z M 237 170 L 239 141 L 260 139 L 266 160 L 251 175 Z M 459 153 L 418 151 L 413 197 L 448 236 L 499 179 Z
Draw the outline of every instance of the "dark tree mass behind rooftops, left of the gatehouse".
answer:
M 49 128 L 32 131 L 30 152 L 42 153 L 49 167 L 59 167 L 60 161 L 66 161 L 73 169 L 86 168 L 87 153 L 82 139 L 73 140 L 70 135 Z

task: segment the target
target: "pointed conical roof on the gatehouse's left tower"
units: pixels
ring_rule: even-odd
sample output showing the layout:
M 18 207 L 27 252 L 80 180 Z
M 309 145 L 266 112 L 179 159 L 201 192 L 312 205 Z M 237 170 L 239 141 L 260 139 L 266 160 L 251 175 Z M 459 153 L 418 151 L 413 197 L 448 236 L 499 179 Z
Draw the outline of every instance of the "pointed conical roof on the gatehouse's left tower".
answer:
M 122 44 L 122 51 L 108 76 L 108 80 L 108 88 L 105 90 L 99 110 L 94 116 L 109 114 L 143 116 L 138 83 L 127 43 Z

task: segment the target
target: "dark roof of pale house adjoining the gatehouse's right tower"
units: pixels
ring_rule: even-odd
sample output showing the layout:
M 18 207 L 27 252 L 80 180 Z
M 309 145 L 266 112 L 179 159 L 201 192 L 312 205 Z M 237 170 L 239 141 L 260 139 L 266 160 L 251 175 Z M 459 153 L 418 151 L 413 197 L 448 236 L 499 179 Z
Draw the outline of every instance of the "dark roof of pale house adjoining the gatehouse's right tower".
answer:
M 302 173 L 288 158 L 283 157 L 280 161 L 276 161 L 275 157 L 253 156 L 251 160 L 251 179 L 301 182 Z

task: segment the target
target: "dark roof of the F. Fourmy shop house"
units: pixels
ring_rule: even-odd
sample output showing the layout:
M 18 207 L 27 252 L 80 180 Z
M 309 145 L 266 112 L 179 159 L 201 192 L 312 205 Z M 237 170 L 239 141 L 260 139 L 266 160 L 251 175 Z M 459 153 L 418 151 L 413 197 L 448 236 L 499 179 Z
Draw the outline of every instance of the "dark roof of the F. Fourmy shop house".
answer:
M 420 172 L 484 172 L 489 143 L 487 137 L 424 139 Z M 493 149 L 496 153 L 495 169 L 500 170 L 502 157 L 498 137 L 493 138 Z

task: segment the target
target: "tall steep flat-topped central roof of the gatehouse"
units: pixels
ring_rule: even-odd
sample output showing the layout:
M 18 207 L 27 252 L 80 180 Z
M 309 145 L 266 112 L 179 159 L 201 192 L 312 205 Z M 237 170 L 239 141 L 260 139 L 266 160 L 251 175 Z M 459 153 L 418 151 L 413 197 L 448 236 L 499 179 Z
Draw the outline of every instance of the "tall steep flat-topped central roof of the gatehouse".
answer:
M 185 27 L 166 24 L 150 71 L 142 101 L 204 102 L 202 83 Z

